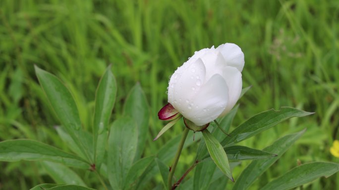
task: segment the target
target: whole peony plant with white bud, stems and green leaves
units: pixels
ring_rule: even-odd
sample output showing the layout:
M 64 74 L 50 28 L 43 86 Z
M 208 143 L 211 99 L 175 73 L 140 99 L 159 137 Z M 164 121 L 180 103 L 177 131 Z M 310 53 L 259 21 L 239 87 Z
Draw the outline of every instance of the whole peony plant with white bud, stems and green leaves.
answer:
M 146 156 L 145 145 L 151 140 L 148 139 L 150 115 L 139 84 L 130 90 L 122 113 L 115 115 L 111 123 L 117 83 L 108 67 L 98 82 L 94 107 L 91 107 L 92 128 L 87 129 L 82 126 L 81 112 L 67 87 L 56 76 L 36 66 L 42 90 L 59 119 L 59 125 L 54 127 L 56 138 L 60 138 L 67 149 L 32 139 L 5 140 L 0 142 L 0 161 L 39 162 L 39 171 L 43 170 L 42 173 L 48 174 L 55 183 L 37 184 L 31 190 L 94 190 L 90 186 L 98 190 L 145 190 L 155 184 L 154 190 L 219 190 L 225 189 L 227 178 L 234 182 L 232 190 L 249 189 L 305 130 L 285 135 L 263 150 L 236 144 L 285 119 L 313 113 L 288 107 L 268 110 L 252 116 L 227 134 L 238 110 L 236 102 L 249 89 L 241 89 L 243 67 L 244 54 L 232 43 L 195 52 L 170 78 L 169 103 L 158 113 L 160 119 L 169 123 L 154 140 L 183 117 L 182 137 L 172 138 L 160 150 Z M 189 133 L 190 130 L 193 133 Z M 181 177 L 174 178 L 181 151 L 184 145 L 195 143 L 196 132 L 202 133 L 202 137 L 197 135 L 196 138 L 200 142 L 195 160 Z M 187 137 L 193 137 L 193 141 Z M 332 152 L 337 151 L 337 145 L 334 144 Z M 176 147 L 176 152 L 170 151 Z M 174 161 L 168 167 L 172 158 Z M 253 161 L 234 179 L 231 169 L 241 160 Z M 85 177 L 78 175 L 79 171 L 85 173 Z M 260 188 L 288 190 L 338 171 L 337 163 L 299 164 Z M 186 180 L 189 172 L 194 175 Z M 159 173 L 163 184 L 158 183 Z

